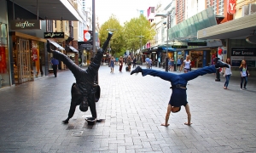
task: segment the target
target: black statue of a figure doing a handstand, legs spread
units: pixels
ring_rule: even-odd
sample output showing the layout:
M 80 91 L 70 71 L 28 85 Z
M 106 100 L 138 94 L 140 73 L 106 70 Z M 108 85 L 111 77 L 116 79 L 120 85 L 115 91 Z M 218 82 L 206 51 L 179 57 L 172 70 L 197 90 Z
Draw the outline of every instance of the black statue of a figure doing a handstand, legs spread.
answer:
M 95 98 L 96 90 L 99 86 L 95 83 L 97 72 L 100 68 L 102 57 L 106 48 L 108 47 L 108 42 L 113 36 L 113 33 L 108 33 L 108 38 L 104 42 L 103 47 L 98 49 L 95 57 L 92 59 L 90 66 L 87 70 L 80 68 L 78 65 L 73 63 L 73 60 L 69 59 L 67 55 L 62 54 L 59 51 L 52 50 L 49 47 L 49 41 L 47 42 L 47 51 L 53 54 L 55 59 L 61 60 L 70 71 L 72 71 L 73 76 L 76 79 L 76 82 L 73 83 L 71 88 L 71 105 L 68 112 L 67 119 L 64 120 L 64 123 L 68 123 L 69 119 L 73 117 L 76 106 L 79 105 L 80 111 L 88 111 L 88 106 L 90 106 L 90 112 L 92 117 L 91 120 L 96 119 L 96 101 L 99 97 Z

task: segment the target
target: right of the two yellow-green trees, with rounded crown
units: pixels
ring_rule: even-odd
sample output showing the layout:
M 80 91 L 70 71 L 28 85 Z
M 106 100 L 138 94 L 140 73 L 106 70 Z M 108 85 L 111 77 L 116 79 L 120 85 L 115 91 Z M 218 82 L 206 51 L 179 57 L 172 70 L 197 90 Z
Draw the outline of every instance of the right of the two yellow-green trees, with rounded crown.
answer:
M 125 22 L 125 48 L 129 50 L 136 51 L 141 48 L 141 40 L 142 45 L 145 45 L 149 40 L 153 39 L 154 35 L 154 29 L 143 14 L 138 18 L 132 18 L 129 22 Z

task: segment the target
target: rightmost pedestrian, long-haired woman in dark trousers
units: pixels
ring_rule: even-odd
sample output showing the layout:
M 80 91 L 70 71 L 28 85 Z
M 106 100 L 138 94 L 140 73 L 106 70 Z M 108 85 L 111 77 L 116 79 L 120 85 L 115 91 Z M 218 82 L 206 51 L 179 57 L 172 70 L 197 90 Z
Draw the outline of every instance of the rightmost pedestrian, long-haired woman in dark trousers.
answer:
M 240 83 L 240 89 L 247 89 L 247 81 L 248 78 L 250 76 L 249 71 L 247 70 L 247 62 L 245 60 L 241 60 L 241 65 L 239 66 L 240 68 L 240 72 L 241 72 L 241 83 Z M 243 88 L 242 88 L 242 83 L 244 81 L 243 84 Z

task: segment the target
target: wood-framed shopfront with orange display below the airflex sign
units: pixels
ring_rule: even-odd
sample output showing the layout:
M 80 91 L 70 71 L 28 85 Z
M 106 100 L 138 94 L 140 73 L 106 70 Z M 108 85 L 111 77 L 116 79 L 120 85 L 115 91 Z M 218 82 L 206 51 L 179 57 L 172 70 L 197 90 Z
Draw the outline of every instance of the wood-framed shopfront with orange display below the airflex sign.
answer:
M 45 39 L 20 32 L 11 32 L 15 84 L 33 81 L 46 73 Z

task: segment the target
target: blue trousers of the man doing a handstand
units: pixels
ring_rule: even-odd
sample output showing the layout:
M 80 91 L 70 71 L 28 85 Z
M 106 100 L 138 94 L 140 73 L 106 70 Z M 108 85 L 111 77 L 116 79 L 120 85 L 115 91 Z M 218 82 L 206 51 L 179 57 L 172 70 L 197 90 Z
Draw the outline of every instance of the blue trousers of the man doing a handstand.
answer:
M 170 73 L 166 71 L 155 71 L 152 69 L 143 69 L 143 77 L 150 75 L 153 77 L 160 77 L 163 80 L 171 82 L 172 85 L 177 85 L 177 84 L 186 85 L 189 80 L 193 80 L 196 77 L 203 76 L 207 73 L 215 73 L 215 72 L 216 72 L 215 65 L 203 67 L 201 69 L 197 69 L 195 71 L 190 71 L 188 73 L 183 73 L 183 74 L 175 74 L 175 73 Z

